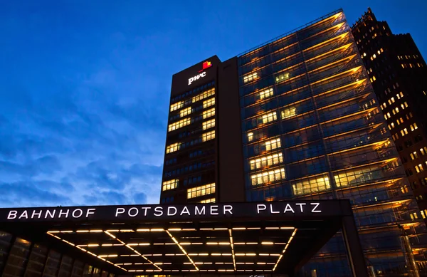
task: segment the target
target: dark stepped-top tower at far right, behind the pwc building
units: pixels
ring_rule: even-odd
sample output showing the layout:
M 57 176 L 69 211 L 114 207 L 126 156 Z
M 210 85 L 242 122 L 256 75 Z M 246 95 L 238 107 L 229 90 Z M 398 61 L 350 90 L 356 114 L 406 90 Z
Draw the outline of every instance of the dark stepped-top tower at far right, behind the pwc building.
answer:
M 352 27 L 362 60 L 423 219 L 427 218 L 427 66 L 410 34 L 395 35 L 371 9 Z

